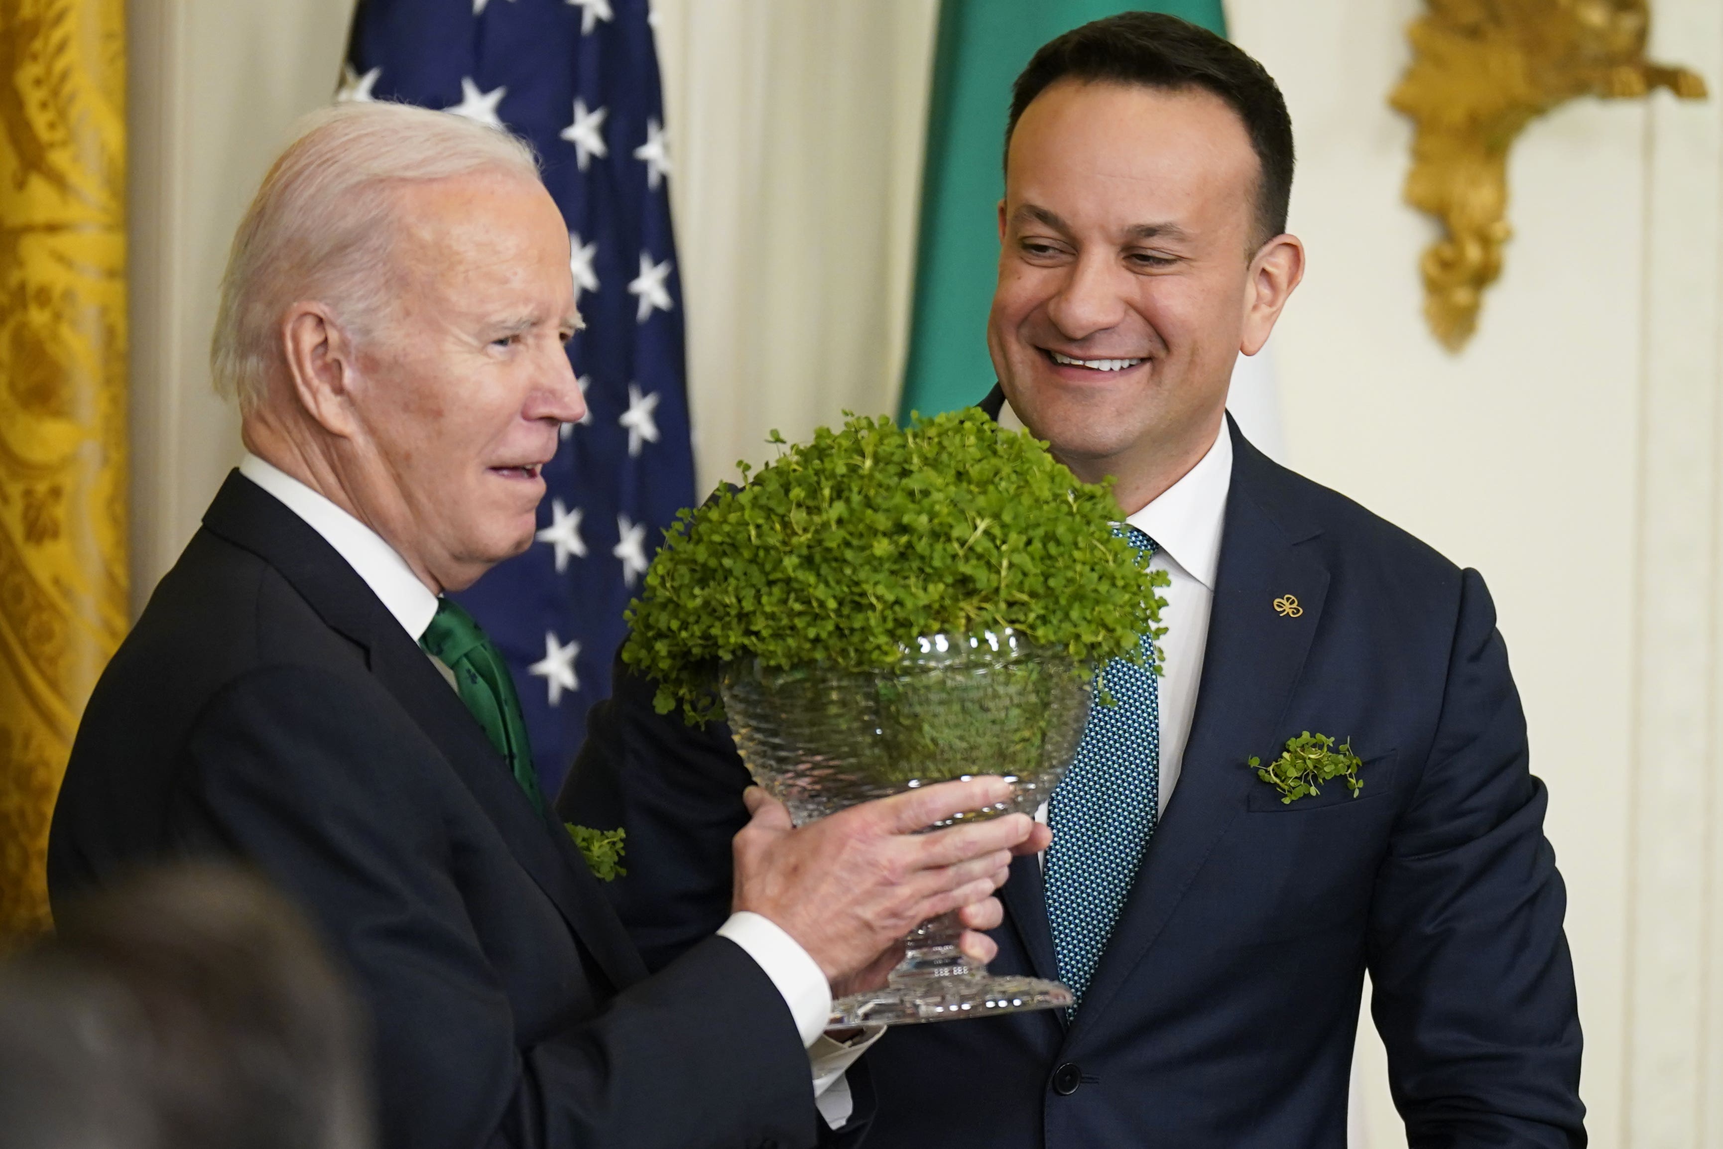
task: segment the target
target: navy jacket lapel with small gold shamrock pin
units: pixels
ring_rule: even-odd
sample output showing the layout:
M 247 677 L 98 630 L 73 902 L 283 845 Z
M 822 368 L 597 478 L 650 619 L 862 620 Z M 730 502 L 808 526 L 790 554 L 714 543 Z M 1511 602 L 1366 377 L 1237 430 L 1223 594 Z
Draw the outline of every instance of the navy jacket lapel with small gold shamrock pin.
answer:
M 1070 1040 L 1106 1015 L 1110 999 L 1148 954 L 1197 870 L 1244 811 L 1249 787 L 1258 784 L 1244 763 L 1275 741 L 1322 624 L 1328 570 L 1308 548 L 1297 546 L 1315 531 L 1280 522 L 1282 517 L 1265 510 L 1277 467 L 1235 427 L 1232 438 L 1232 488 L 1184 763 L 1077 1011 Z M 1273 606 L 1287 594 L 1303 606 L 1296 618 Z

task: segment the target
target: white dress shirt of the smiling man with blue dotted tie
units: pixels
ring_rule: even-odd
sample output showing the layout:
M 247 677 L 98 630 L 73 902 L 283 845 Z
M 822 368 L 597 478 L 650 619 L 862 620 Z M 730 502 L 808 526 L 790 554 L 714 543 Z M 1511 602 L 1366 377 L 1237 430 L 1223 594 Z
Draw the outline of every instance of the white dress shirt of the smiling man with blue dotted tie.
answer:
M 1023 422 L 1006 403 L 999 425 L 1018 429 Z M 1232 489 L 1232 436 L 1222 420 L 1215 444 L 1179 482 L 1125 522 L 1156 543 L 1149 570 L 1165 570 L 1170 586 L 1161 612 L 1161 651 L 1166 665 L 1160 679 L 1160 789 L 1161 813 L 1179 786 L 1184 748 L 1196 713 L 1196 687 L 1203 680 L 1203 651 L 1208 648 L 1208 615 L 1215 605 L 1215 574 L 1220 568 L 1220 531 L 1227 522 L 1227 493 Z M 1042 803 L 1037 817 L 1046 820 Z

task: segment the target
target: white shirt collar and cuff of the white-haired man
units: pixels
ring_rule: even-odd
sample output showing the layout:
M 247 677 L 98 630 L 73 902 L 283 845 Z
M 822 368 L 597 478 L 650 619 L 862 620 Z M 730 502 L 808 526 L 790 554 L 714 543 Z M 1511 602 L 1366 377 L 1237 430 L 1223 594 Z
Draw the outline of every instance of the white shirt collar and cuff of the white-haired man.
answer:
M 274 494 L 288 510 L 305 520 L 320 534 L 329 546 L 346 560 L 353 572 L 365 581 L 383 605 L 401 624 L 408 637 L 415 643 L 436 617 L 438 596 L 431 593 L 412 567 L 407 565 L 393 546 L 346 513 L 327 498 L 286 474 L 279 467 L 264 462 L 250 451 L 239 462 L 239 474 Z M 432 661 L 436 661 L 432 658 Z M 438 663 L 441 665 L 441 663 Z M 450 686 L 453 686 L 453 677 Z M 832 1090 L 834 1082 L 843 1078 L 843 1071 L 862 1056 L 872 1037 L 858 1039 L 851 1044 L 839 1044 L 825 1037 L 825 1022 L 832 1013 L 832 989 L 820 972 L 818 963 L 803 949 L 794 937 L 779 929 L 770 918 L 758 913 L 732 913 L 718 927 L 722 937 L 731 939 L 753 958 L 772 985 L 784 996 L 789 1015 L 801 1034 L 801 1044 L 808 1047 L 813 1068 L 815 1097 L 827 1120 L 836 1115 L 834 1128 L 849 1118 L 849 1090 Z M 836 1092 L 837 1096 L 820 1096 Z M 841 1102 L 841 1104 L 836 1104 Z

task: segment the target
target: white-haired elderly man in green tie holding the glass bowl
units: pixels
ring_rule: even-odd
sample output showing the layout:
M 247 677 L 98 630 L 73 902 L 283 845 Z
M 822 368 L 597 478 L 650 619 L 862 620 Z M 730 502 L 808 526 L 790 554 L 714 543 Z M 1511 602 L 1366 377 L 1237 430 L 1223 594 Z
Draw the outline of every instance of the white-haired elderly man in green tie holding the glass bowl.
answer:
M 753 794 L 734 913 L 648 977 L 548 813 L 496 648 L 448 591 L 526 550 L 584 413 L 569 236 L 515 140 L 403 105 L 312 115 L 234 238 L 215 326 L 245 462 L 84 713 L 55 901 L 171 856 L 252 861 L 369 1006 L 384 1144 L 855 1140 L 815 1084 L 841 991 L 961 908 L 999 923 L 1023 817 L 979 779 L 791 829 Z M 810 1065 L 810 1058 L 813 1058 Z

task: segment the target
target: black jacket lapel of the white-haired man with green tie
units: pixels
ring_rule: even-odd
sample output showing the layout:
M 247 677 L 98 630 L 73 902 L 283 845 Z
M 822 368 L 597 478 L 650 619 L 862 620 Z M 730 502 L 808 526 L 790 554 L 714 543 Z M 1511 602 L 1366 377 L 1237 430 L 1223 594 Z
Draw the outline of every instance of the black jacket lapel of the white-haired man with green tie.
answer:
M 612 984 L 624 989 L 646 977 L 622 922 L 562 825 L 532 808 L 484 730 L 346 560 L 239 472 L 227 475 L 203 525 L 279 570 L 329 627 L 365 649 L 370 672 L 450 761 L 515 861 Z

